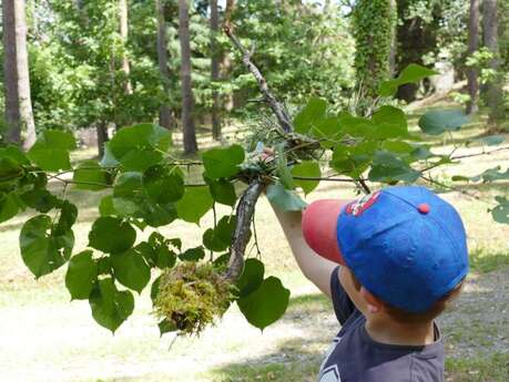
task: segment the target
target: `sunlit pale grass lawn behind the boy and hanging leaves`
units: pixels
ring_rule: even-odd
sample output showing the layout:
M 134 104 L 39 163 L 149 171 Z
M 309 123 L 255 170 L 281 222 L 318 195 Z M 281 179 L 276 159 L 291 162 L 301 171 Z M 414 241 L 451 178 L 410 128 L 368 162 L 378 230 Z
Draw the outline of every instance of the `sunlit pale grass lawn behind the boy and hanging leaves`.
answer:
M 479 125 L 472 125 L 459 141 L 434 140 L 432 144 L 450 151 L 455 143 L 480 132 Z M 509 144 L 508 136 L 505 144 Z M 474 144 L 465 152 L 476 149 L 480 147 Z M 475 175 L 498 164 L 503 168 L 509 165 L 508 152 L 482 161 L 468 158 L 440 173 Z M 462 189 L 480 200 L 460 193 L 442 195 L 465 219 L 472 269 L 461 297 L 440 318 L 447 381 L 507 382 L 509 226 L 493 223 L 487 209 L 493 195 L 509 196 L 509 188 L 507 184 L 465 184 Z M 81 208 L 74 227 L 77 251 L 86 245 L 100 196 L 70 194 Z M 352 196 L 349 187 L 322 184 L 309 200 Z M 263 258 L 267 272 L 282 278 L 292 290 L 292 300 L 285 317 L 264 332 L 251 327 L 234 308 L 200 338 L 171 333 L 160 338 L 145 290 L 136 300 L 134 314 L 112 335 L 93 321 L 86 301 L 70 302 L 64 269 L 33 280 L 19 255 L 22 221 L 21 217 L 0 226 L 0 375 L 4 381 L 315 381 L 328 342 L 339 330 L 330 302 L 297 271 L 265 199 L 256 209 Z M 206 216 L 202 226 L 211 221 L 212 216 Z M 182 237 L 184 246 L 193 246 L 200 238 L 194 226 L 180 221 L 161 231 Z M 253 246 L 248 248 L 248 256 L 254 256 Z

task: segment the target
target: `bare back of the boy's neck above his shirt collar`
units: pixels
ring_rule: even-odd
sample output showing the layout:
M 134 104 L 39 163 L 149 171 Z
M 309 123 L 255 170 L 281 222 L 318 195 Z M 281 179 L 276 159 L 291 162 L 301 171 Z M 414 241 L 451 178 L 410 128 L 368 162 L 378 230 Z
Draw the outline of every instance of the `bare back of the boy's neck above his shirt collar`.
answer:
M 366 321 L 369 337 L 381 343 L 427 345 L 435 342 L 434 322 L 399 323 L 387 318 L 369 317 Z

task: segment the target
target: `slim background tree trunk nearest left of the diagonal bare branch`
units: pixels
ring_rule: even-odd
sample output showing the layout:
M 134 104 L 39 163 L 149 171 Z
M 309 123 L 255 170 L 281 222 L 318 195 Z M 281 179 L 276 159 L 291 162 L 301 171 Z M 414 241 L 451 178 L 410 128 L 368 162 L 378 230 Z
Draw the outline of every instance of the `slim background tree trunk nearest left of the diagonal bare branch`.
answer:
M 216 43 L 216 37 L 220 30 L 220 18 L 217 13 L 217 0 L 211 0 L 211 80 L 213 83 L 220 81 L 220 52 Z M 217 91 L 212 92 L 212 136 L 215 141 L 220 141 L 220 94 Z

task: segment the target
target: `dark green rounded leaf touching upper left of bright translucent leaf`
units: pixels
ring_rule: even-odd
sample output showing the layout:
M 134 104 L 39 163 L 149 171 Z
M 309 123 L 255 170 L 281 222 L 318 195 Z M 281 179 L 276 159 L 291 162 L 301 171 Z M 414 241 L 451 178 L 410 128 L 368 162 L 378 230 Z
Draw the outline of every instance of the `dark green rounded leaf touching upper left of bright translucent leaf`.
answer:
M 143 174 L 143 188 L 155 204 L 176 202 L 184 195 L 184 179 L 177 168 L 169 172 L 163 166 L 152 166 Z

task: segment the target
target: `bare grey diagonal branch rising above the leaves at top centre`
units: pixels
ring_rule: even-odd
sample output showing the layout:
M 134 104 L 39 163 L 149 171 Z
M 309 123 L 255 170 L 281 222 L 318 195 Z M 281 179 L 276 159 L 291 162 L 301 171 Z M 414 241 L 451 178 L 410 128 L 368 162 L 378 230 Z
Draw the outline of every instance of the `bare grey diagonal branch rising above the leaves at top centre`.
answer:
M 250 70 L 250 72 L 256 79 L 256 82 L 258 83 L 258 86 L 259 86 L 259 91 L 262 92 L 265 101 L 268 103 L 274 114 L 276 114 L 277 122 L 279 123 L 283 131 L 285 133 L 289 133 L 291 131 L 293 131 L 293 126 L 292 126 L 292 123 L 289 122 L 288 114 L 286 113 L 283 104 L 279 103 L 277 99 L 268 90 L 267 81 L 265 80 L 263 74 L 259 72 L 258 68 L 253 63 L 253 61 L 251 61 L 250 52 L 244 48 L 244 45 L 236 38 L 236 35 L 233 34 L 233 31 L 230 28 L 230 25 L 224 27 L 224 32 L 230 38 L 230 40 L 232 40 L 235 48 L 241 51 L 242 61 L 244 62 L 244 65 Z

